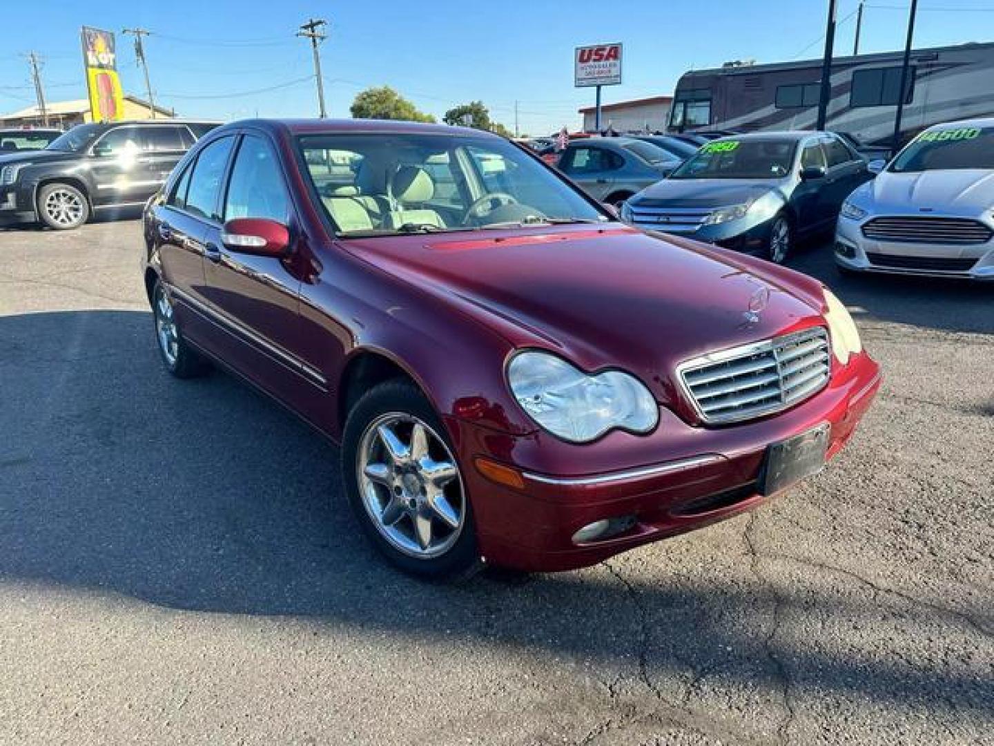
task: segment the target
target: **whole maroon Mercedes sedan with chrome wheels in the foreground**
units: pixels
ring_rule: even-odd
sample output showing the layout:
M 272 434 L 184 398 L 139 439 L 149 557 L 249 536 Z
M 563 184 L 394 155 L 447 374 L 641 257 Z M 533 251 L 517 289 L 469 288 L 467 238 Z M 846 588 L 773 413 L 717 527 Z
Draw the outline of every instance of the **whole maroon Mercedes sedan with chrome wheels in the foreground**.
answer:
M 635 231 L 475 130 L 230 124 L 144 232 L 170 372 L 220 363 L 341 444 L 359 522 L 419 575 L 728 518 L 824 466 L 880 383 L 818 281 Z

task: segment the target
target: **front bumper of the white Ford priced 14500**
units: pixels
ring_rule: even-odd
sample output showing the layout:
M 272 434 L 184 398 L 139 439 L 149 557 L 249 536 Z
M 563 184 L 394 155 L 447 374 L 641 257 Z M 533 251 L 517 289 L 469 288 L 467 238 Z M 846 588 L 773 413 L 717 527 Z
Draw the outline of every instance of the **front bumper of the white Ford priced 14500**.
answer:
M 839 267 L 886 275 L 994 280 L 994 239 L 968 245 L 878 241 L 867 238 L 862 231 L 863 224 L 874 217 L 839 218 L 834 244 Z

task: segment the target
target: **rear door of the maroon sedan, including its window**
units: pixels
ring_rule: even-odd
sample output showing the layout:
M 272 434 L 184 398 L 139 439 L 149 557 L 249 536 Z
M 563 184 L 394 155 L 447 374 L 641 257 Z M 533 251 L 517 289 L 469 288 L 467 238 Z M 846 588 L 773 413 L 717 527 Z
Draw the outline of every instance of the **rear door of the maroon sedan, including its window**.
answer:
M 204 255 L 235 141 L 220 137 L 183 166 L 165 202 L 153 208 L 150 227 L 183 333 L 209 351 L 217 347 L 220 330 L 208 308 Z

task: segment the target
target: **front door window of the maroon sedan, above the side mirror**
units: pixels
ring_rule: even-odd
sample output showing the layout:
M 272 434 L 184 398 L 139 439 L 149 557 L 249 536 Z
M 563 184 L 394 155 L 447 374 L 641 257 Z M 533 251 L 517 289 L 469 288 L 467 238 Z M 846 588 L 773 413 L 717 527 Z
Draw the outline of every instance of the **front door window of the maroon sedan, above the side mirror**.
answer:
M 246 135 L 235 156 L 225 200 L 225 220 L 265 218 L 286 224 L 290 205 L 272 148 L 261 137 Z

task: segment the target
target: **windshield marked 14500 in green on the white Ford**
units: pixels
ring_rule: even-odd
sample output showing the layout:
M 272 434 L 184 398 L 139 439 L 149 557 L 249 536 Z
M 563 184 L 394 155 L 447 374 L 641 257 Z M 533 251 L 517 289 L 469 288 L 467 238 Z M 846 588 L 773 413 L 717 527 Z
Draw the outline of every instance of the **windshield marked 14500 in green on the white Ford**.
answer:
M 945 168 L 994 169 L 994 127 L 944 127 L 922 132 L 888 169 L 894 173 Z

